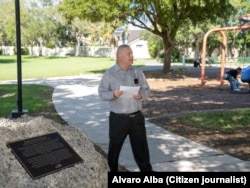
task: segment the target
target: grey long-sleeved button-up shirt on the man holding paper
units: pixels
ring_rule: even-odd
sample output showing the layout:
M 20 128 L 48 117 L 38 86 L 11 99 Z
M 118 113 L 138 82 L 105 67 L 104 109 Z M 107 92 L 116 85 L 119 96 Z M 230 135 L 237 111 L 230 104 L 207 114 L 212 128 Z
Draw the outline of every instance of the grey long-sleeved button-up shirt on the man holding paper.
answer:
M 138 80 L 138 83 L 135 79 Z M 114 90 L 120 89 L 120 86 L 140 86 L 139 93 L 142 95 L 142 99 L 149 97 L 150 88 L 143 72 L 132 66 L 124 71 L 118 64 L 115 64 L 103 74 L 98 87 L 99 97 L 104 101 L 109 101 L 110 111 L 129 114 L 141 110 L 141 100 L 114 97 Z

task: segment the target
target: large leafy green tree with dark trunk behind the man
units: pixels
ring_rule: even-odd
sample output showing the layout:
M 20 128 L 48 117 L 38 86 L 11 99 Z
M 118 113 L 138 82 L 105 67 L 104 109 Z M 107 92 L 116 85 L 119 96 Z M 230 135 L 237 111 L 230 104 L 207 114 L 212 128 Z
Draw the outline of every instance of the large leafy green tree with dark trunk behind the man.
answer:
M 145 29 L 163 40 L 164 66 L 171 65 L 176 33 L 185 24 L 198 24 L 226 18 L 234 8 L 229 0 L 64 0 L 59 8 L 68 19 L 78 17 L 93 22 L 123 21 Z

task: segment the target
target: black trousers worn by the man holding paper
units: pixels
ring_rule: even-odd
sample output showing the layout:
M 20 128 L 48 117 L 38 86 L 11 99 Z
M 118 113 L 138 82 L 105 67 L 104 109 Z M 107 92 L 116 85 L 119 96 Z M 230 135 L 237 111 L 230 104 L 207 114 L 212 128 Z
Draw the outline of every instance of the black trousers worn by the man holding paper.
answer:
M 140 171 L 152 171 L 146 137 L 145 118 L 141 112 L 138 112 L 135 117 L 110 112 L 110 140 L 108 150 L 110 171 L 118 171 L 119 155 L 127 135 L 129 135 L 134 159 Z

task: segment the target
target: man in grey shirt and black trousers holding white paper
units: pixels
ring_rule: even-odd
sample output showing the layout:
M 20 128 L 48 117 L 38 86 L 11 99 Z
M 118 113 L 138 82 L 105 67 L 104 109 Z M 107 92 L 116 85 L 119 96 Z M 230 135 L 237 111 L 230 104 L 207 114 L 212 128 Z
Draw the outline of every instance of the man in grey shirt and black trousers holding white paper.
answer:
M 135 161 L 140 171 L 152 171 L 146 136 L 142 100 L 149 97 L 150 88 L 141 70 L 132 67 L 133 52 L 128 45 L 117 48 L 117 62 L 104 74 L 98 87 L 100 99 L 109 102 L 110 171 L 118 171 L 118 160 L 123 143 L 129 136 Z M 139 86 L 139 92 L 123 97 L 121 86 Z

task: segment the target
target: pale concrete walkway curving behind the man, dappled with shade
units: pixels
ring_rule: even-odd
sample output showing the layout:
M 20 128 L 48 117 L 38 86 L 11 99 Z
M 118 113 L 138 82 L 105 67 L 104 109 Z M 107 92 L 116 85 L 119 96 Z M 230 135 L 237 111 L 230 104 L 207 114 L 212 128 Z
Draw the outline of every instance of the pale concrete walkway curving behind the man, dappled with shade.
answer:
M 151 62 L 144 68 L 159 69 Z M 93 143 L 107 153 L 108 103 L 98 98 L 101 74 L 80 75 L 44 80 L 24 80 L 23 84 L 43 84 L 54 87 L 53 101 L 60 116 L 78 128 Z M 2 82 L 4 83 L 4 82 Z M 15 83 L 8 81 L 8 83 Z M 162 172 L 247 172 L 250 161 L 225 155 L 184 137 L 166 131 L 146 121 L 147 137 L 154 171 Z M 120 164 L 129 171 L 138 171 L 129 140 L 120 154 Z

